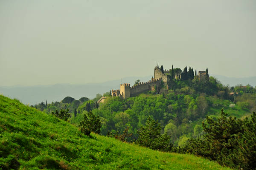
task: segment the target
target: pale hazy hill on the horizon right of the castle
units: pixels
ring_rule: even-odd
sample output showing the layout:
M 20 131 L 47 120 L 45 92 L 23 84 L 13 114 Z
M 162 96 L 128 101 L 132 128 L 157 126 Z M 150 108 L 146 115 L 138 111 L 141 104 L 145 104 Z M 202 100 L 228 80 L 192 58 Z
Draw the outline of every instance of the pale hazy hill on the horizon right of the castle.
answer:
M 221 81 L 223 85 L 235 86 L 239 84 L 242 84 L 242 85 L 250 84 L 253 87 L 256 86 L 256 77 L 235 78 L 235 77 L 226 77 L 226 76 L 215 75 L 215 74 L 212 74 L 210 76 L 217 78 L 219 81 Z

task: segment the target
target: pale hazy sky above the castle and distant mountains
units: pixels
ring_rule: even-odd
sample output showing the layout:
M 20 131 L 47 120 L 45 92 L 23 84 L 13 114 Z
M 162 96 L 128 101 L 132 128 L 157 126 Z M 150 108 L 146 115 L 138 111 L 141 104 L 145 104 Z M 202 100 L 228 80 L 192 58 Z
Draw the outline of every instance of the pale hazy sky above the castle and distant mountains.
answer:
M 0 0 L 0 85 L 164 68 L 256 76 L 256 0 Z

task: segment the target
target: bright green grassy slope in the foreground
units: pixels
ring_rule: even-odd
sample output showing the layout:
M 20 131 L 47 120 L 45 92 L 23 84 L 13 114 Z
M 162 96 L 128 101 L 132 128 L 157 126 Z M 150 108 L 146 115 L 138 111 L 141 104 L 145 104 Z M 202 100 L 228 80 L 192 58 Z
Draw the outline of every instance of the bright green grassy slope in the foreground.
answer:
M 0 169 L 227 170 L 192 155 L 163 153 L 92 134 L 0 95 Z

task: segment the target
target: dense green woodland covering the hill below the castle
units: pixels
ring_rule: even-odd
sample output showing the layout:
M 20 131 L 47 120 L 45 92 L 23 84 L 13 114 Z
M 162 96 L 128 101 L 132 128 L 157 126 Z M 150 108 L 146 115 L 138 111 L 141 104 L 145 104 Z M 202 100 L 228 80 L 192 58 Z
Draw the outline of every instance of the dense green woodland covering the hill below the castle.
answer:
M 199 79 L 192 68 L 189 68 L 189 71 L 186 70 L 187 68 L 184 68 L 181 80 L 173 79 L 172 76 L 180 69 L 175 68 L 172 69 L 173 72 L 170 71 L 171 90 L 148 91 L 128 99 L 112 97 L 111 92 L 106 92 L 103 96 L 107 99 L 103 103 L 97 103 L 102 96 L 100 94 L 97 94 L 94 99 L 82 97 L 79 100 L 67 96 L 61 102 L 47 104 L 46 101 L 32 107 L 49 114 L 66 111 L 70 113 L 67 121 L 77 126 L 84 120 L 84 115 L 93 113 L 100 119 L 102 135 L 114 136 L 125 132 L 129 134 L 125 136 L 125 141 L 128 142 L 137 142 L 156 150 L 193 153 L 228 165 L 230 161 L 212 156 L 214 151 L 205 153 L 205 148 L 202 147 L 204 139 L 207 139 L 207 135 L 210 138 L 211 121 L 217 122 L 221 117 L 233 116 L 241 121 L 247 121 L 244 122 L 244 126 L 249 124 L 250 115 L 256 111 L 256 88 L 250 85 L 224 86 L 214 77 L 209 77 L 208 70 L 205 79 Z M 221 112 L 221 109 L 224 109 L 225 113 Z M 243 123 L 240 122 L 240 124 L 242 127 Z M 165 139 L 168 141 L 165 147 L 154 140 L 154 144 L 143 143 L 145 141 L 142 138 L 143 129 L 147 129 L 147 126 L 155 126 L 153 129 L 156 134 L 154 135 L 161 136 L 161 141 Z M 243 130 L 240 129 L 239 132 Z M 201 144 L 201 150 L 191 150 L 196 145 L 195 140 Z M 229 154 L 226 153 L 227 155 Z M 242 167 L 238 163 L 230 166 Z M 246 169 L 246 167 L 243 168 Z

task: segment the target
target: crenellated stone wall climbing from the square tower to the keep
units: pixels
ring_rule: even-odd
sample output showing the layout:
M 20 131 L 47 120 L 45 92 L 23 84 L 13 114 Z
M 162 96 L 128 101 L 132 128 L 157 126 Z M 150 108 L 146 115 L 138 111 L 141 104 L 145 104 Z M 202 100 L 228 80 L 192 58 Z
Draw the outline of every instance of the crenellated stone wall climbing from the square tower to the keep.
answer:
M 130 88 L 130 96 L 134 97 L 145 91 L 156 90 L 154 89 L 154 86 L 159 88 L 160 85 L 161 85 L 161 79 L 154 79 L 153 81 L 148 81 L 148 82 L 140 82 L 139 85 L 136 85 L 136 86 L 134 85 Z

